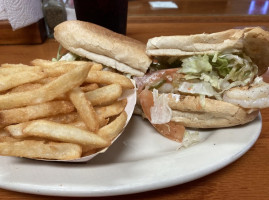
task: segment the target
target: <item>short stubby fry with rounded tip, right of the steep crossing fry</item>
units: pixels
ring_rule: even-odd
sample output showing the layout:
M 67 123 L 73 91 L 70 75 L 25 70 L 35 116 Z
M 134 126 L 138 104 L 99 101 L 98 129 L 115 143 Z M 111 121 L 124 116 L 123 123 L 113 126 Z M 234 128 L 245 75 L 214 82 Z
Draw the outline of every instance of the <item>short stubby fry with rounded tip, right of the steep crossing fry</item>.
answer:
M 85 93 L 93 106 L 108 105 L 116 101 L 122 94 L 119 84 L 111 84 Z M 1 101 L 0 101 L 1 102 Z

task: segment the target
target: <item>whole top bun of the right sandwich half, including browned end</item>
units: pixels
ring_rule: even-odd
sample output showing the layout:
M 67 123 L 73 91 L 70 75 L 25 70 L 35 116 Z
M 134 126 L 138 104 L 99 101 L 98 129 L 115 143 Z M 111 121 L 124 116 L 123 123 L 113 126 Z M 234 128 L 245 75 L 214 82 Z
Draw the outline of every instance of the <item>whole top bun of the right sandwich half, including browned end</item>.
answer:
M 263 29 L 230 29 L 211 34 L 161 36 L 148 40 L 150 56 L 188 56 L 215 52 L 244 52 L 259 67 L 259 74 L 269 66 L 269 32 Z

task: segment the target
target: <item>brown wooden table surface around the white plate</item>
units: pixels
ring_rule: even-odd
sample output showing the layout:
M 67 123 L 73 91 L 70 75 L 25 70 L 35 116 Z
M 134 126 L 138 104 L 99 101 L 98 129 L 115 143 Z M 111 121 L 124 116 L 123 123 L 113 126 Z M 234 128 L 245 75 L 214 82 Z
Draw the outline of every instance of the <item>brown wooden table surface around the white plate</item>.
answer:
M 127 35 L 143 42 L 148 38 L 160 35 L 190 34 L 201 32 L 214 32 L 227 28 L 259 25 L 269 27 L 268 21 L 262 18 L 236 18 L 223 21 L 214 21 L 210 18 L 197 18 L 188 22 L 180 17 L 129 17 Z M 209 20 L 209 21 L 208 21 Z M 42 45 L 0 46 L 0 63 L 29 64 L 32 59 L 51 59 L 56 56 L 58 44 L 54 40 L 47 40 Z M 269 72 L 264 75 L 269 82 Z M 117 197 L 104 197 L 92 199 L 268 199 L 269 198 L 269 109 L 261 111 L 263 128 L 255 145 L 240 159 L 227 167 L 207 175 L 198 180 L 140 194 Z M 180 172 L 179 172 L 180 173 Z M 51 199 L 48 196 L 17 193 L 0 189 L 1 199 Z M 53 197 L 53 199 L 67 199 Z M 80 199 L 80 198 L 74 198 Z

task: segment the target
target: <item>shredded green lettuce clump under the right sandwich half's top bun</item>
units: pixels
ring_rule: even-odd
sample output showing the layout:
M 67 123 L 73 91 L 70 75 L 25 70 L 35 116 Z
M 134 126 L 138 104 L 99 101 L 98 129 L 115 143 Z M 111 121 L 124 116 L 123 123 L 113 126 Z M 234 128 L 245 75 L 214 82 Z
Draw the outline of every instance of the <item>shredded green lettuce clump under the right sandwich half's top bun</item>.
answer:
M 215 53 L 214 55 L 194 55 L 182 59 L 182 68 L 179 73 L 185 74 L 184 79 L 188 82 L 200 80 L 210 83 L 215 93 L 208 92 L 209 87 L 203 83 L 205 88 L 198 91 L 199 94 L 213 95 L 220 99 L 224 91 L 251 83 L 258 74 L 258 67 L 244 54 Z

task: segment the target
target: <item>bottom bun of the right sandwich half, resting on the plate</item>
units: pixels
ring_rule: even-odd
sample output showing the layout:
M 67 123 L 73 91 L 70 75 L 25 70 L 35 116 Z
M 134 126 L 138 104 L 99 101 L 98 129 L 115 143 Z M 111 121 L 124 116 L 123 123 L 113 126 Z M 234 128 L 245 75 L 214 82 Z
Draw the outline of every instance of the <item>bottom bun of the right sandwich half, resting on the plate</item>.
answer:
M 239 106 L 200 97 L 185 96 L 176 99 L 168 95 L 172 111 L 171 121 L 191 128 L 222 128 L 246 124 L 253 121 L 259 111 L 247 110 Z

